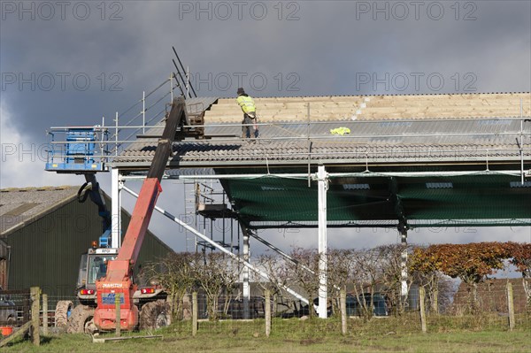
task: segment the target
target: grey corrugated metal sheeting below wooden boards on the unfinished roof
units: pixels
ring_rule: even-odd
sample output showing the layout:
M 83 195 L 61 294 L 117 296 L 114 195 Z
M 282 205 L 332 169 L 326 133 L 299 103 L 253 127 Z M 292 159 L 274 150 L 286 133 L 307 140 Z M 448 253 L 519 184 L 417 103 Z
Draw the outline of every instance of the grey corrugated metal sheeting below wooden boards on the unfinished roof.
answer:
M 348 127 L 350 134 L 332 135 L 330 129 Z M 285 163 L 289 161 L 333 160 L 340 163 L 386 160 L 406 162 L 443 158 L 519 157 L 519 119 L 454 119 L 403 121 L 338 121 L 307 124 L 279 122 L 260 127 L 257 142 L 240 138 L 185 141 L 173 144 L 173 163 L 229 164 L 231 162 Z M 310 140 L 308 140 L 308 131 Z M 205 134 L 238 136 L 238 125 L 206 127 Z M 525 147 L 531 148 L 531 127 L 525 129 Z M 309 150 L 309 141 L 312 148 Z M 114 165 L 149 163 L 156 142 L 136 142 Z M 489 150 L 489 152 L 487 152 Z M 530 152 L 525 152 L 529 158 Z M 189 165 L 187 165 L 187 163 Z M 228 166 L 228 165 L 227 165 Z

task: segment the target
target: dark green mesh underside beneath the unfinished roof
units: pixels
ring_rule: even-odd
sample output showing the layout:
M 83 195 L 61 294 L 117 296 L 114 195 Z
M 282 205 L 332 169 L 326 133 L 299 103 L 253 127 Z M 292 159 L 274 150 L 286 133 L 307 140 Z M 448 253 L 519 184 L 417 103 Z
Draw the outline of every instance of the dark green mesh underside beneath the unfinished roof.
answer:
M 333 178 L 327 191 L 330 225 L 396 224 L 472 226 L 531 224 L 531 188 L 518 187 L 512 175 L 450 177 Z M 301 223 L 318 220 L 317 182 L 262 177 L 222 180 L 242 220 L 249 225 Z

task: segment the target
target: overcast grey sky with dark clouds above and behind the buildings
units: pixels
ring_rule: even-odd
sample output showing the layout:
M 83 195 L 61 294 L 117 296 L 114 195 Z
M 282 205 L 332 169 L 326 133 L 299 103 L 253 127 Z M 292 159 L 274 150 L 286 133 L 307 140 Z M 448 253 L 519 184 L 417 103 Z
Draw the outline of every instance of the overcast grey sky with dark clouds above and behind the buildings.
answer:
M 235 96 L 240 85 L 252 96 L 531 90 L 529 1 L 2 1 L 1 16 L 1 188 L 81 184 L 43 171 L 45 130 L 111 121 L 174 71 L 172 46 L 199 96 Z M 110 193 L 110 176 L 100 180 Z M 165 186 L 160 203 L 179 213 L 181 194 Z M 154 223 L 183 249 L 178 232 Z M 317 246 L 317 231 L 267 236 Z M 410 238 L 531 242 L 531 229 Z M 396 231 L 329 231 L 334 247 L 396 241 Z

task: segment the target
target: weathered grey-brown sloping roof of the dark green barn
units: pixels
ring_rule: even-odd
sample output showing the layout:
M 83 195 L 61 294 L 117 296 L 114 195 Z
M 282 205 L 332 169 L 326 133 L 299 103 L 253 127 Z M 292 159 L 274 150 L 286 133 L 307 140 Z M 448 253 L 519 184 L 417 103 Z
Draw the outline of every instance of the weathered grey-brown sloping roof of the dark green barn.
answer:
M 11 233 L 72 201 L 77 190 L 70 186 L 0 189 L 0 234 Z

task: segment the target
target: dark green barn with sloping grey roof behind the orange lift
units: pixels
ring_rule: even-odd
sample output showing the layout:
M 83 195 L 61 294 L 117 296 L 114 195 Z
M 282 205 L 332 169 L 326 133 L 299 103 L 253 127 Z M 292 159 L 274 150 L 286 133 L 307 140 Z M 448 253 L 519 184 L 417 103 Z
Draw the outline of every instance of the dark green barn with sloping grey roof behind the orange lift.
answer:
M 0 286 L 17 290 L 38 286 L 42 293 L 75 295 L 81 254 L 102 234 L 102 219 L 78 187 L 0 189 Z M 104 195 L 108 209 L 110 197 Z M 130 215 L 122 209 L 123 234 Z M 137 265 L 173 251 L 148 232 Z

